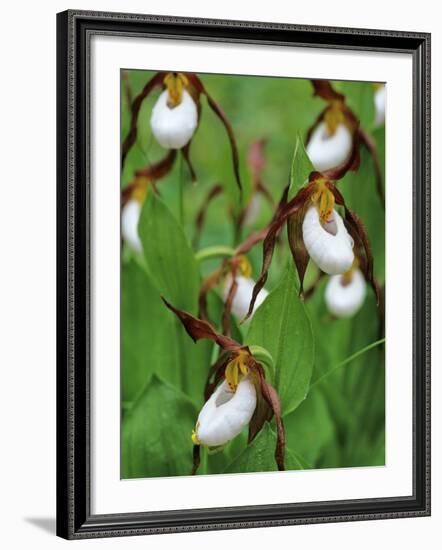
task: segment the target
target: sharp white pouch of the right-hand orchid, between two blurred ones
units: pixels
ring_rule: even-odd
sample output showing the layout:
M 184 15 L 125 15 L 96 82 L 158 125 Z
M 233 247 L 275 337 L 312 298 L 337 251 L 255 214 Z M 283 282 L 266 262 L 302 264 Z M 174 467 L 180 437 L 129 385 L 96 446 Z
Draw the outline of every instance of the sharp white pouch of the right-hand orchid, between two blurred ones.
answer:
M 338 275 L 348 271 L 353 263 L 353 239 L 341 216 L 333 210 L 324 226 L 316 206 L 311 206 L 302 223 L 302 237 L 310 258 L 325 273 Z

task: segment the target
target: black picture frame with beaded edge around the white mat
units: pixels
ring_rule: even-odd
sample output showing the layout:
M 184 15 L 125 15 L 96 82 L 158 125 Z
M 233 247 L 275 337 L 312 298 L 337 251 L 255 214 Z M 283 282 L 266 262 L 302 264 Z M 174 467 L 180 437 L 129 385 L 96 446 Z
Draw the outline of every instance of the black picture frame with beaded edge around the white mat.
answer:
M 89 42 L 94 34 L 408 53 L 413 58 L 413 495 L 92 515 Z M 67 539 L 430 514 L 430 35 L 69 10 L 57 15 L 57 534 Z

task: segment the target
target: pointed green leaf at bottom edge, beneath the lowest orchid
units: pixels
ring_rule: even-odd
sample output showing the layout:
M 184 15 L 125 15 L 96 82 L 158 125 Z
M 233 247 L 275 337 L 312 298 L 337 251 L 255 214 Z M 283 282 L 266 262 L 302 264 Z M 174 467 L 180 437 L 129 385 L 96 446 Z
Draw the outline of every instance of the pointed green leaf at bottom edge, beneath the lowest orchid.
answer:
M 250 445 L 227 467 L 224 473 L 274 472 L 276 434 L 266 422 Z

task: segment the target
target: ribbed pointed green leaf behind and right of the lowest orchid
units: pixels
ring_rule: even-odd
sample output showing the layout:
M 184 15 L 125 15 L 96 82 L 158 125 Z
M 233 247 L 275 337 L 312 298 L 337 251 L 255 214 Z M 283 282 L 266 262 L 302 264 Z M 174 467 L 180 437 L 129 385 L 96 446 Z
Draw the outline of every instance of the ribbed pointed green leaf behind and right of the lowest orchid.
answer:
M 312 328 L 291 262 L 280 284 L 254 314 L 246 343 L 262 346 L 273 357 L 275 387 L 282 415 L 287 415 L 307 394 L 314 355 Z

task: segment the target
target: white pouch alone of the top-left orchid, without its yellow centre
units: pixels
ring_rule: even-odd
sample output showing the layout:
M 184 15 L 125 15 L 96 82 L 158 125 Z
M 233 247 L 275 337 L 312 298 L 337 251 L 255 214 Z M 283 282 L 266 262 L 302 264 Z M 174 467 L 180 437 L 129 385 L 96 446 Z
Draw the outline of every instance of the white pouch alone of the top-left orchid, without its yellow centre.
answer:
M 150 126 L 158 143 L 166 149 L 181 149 L 192 138 L 198 125 L 198 110 L 187 90 L 175 107 L 167 104 L 168 90 L 160 95 L 152 109 Z

